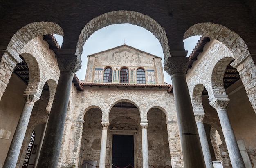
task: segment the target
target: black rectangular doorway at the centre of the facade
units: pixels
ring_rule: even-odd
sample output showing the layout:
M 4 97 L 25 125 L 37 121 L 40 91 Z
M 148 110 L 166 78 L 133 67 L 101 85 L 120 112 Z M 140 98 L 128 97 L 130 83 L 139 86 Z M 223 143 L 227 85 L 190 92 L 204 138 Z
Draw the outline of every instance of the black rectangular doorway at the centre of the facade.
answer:
M 112 164 L 117 167 L 134 166 L 133 135 L 113 135 Z

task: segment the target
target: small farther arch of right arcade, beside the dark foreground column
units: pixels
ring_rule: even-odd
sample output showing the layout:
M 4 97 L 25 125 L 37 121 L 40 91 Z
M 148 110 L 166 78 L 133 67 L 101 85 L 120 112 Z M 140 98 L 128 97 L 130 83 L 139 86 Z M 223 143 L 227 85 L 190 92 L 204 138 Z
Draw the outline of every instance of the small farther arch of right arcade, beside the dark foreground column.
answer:
M 194 113 L 198 113 L 200 111 L 204 111 L 204 107 L 202 104 L 202 92 L 204 90 L 204 85 L 203 84 L 196 84 L 193 93 L 192 93 L 192 106 Z M 197 111 L 197 112 L 196 112 Z

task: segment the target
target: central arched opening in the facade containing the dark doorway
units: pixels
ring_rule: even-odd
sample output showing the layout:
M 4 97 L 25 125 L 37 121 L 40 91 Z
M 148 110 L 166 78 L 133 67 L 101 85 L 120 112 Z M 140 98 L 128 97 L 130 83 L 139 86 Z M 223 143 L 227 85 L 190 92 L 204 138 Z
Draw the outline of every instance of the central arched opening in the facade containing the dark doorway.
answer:
M 109 121 L 110 141 L 107 142 L 107 146 L 109 145 L 110 149 L 107 148 L 106 155 L 108 164 L 112 163 L 118 167 L 126 167 L 129 164 L 141 167 L 141 126 L 138 108 L 130 102 L 118 102 L 110 110 Z

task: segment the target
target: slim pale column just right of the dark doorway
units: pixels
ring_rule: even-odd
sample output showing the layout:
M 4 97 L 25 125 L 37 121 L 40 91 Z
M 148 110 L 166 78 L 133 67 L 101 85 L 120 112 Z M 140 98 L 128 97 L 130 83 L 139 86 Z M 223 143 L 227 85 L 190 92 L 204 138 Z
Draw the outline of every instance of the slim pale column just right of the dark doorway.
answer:
M 148 168 L 148 120 L 141 120 L 143 168 Z

